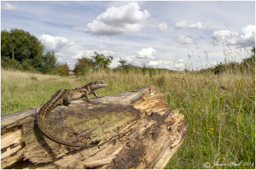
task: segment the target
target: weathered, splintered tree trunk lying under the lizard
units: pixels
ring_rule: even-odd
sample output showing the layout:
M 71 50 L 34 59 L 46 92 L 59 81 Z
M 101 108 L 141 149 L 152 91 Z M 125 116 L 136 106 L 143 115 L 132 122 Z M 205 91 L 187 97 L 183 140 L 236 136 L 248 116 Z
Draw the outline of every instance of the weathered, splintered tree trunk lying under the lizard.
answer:
M 167 109 L 153 86 L 91 100 L 56 107 L 48 128 L 60 139 L 100 149 L 44 137 L 35 122 L 39 106 L 2 116 L 2 168 L 164 168 L 183 143 L 183 115 Z

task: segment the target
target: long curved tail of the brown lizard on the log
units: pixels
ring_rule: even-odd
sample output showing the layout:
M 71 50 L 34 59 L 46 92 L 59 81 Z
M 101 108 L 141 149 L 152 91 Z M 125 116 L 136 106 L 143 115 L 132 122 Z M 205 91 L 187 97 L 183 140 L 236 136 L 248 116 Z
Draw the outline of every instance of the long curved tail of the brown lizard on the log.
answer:
M 48 128 L 46 127 L 45 117 L 41 116 L 40 114 L 38 114 L 38 116 L 37 116 L 37 123 L 38 123 L 39 129 L 44 134 L 44 136 L 46 136 L 47 138 L 51 139 L 52 141 L 54 141 L 58 144 L 64 144 L 64 145 L 72 146 L 72 147 L 95 147 L 95 146 L 97 146 L 98 148 L 100 148 L 99 145 L 71 144 L 67 141 L 57 139 L 55 137 L 55 135 L 53 135 L 52 133 L 49 132 Z

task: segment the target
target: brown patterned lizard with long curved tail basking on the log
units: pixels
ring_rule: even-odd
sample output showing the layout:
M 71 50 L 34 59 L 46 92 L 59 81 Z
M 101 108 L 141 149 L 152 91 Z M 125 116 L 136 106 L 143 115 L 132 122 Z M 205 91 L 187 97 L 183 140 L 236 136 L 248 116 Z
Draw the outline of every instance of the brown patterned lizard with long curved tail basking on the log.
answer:
M 46 127 L 46 117 L 50 111 L 52 111 L 57 105 L 66 105 L 68 106 L 72 100 L 84 98 L 87 99 L 89 103 L 91 103 L 89 95 L 94 94 L 97 98 L 96 90 L 99 88 L 105 88 L 108 86 L 107 82 L 102 81 L 94 81 L 84 84 L 83 86 L 65 89 L 61 88 L 51 98 L 40 108 L 37 114 L 37 124 L 40 131 L 46 136 L 48 139 L 53 140 L 58 144 L 64 144 L 72 147 L 94 147 L 98 145 L 84 145 L 84 144 L 71 144 L 67 141 L 56 138 L 56 136 L 49 132 Z M 99 146 L 98 146 L 99 147 Z

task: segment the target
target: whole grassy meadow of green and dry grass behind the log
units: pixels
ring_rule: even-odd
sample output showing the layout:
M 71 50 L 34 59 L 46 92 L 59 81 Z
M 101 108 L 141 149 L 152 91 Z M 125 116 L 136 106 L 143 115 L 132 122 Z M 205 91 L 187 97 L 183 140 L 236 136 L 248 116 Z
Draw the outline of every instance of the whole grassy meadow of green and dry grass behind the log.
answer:
M 254 68 L 251 68 L 254 69 Z M 255 168 L 255 69 L 148 72 L 89 71 L 59 77 L 1 69 L 1 116 L 44 104 L 60 88 L 102 80 L 108 96 L 154 85 L 167 107 L 183 109 L 186 138 L 166 168 Z

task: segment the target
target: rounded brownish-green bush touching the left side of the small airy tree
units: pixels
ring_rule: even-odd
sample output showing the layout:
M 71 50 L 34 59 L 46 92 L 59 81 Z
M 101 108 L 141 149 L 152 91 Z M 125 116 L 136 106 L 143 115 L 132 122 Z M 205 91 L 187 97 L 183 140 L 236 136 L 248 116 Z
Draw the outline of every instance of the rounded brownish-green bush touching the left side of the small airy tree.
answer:
M 89 71 L 90 68 L 94 68 L 93 59 L 90 59 L 84 55 L 82 56 L 82 59 L 78 59 L 78 61 L 76 62 L 73 72 L 78 76 L 84 75 L 84 73 L 86 71 Z

